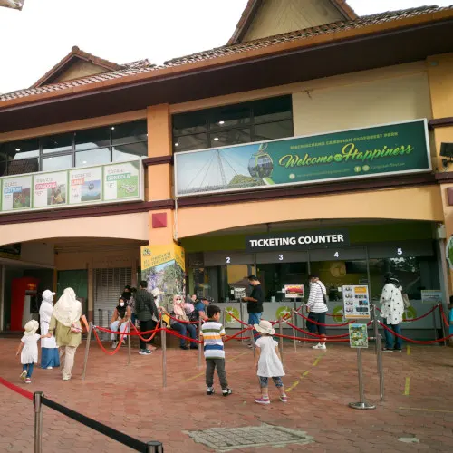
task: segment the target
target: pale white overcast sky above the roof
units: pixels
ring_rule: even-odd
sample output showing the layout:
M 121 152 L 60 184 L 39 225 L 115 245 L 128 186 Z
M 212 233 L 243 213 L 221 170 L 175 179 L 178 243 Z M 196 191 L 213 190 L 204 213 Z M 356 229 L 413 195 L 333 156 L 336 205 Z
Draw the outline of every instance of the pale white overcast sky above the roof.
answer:
M 25 0 L 0 8 L 0 92 L 27 88 L 73 45 L 110 60 L 163 63 L 225 45 L 247 0 Z M 349 0 L 359 15 L 453 0 Z

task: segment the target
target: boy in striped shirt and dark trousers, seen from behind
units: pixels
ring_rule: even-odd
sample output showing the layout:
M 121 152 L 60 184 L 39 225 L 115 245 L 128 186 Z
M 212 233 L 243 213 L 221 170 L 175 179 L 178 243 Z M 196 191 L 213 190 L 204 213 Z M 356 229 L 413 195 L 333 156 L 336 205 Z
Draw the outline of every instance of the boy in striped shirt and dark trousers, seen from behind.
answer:
M 214 394 L 214 371 L 217 368 L 217 375 L 222 387 L 223 396 L 231 395 L 232 391 L 228 388 L 225 371 L 225 350 L 224 326 L 218 322 L 220 319 L 220 308 L 217 305 L 207 305 L 207 322 L 201 326 L 200 340 L 203 340 L 205 359 L 206 359 L 206 385 L 207 395 Z

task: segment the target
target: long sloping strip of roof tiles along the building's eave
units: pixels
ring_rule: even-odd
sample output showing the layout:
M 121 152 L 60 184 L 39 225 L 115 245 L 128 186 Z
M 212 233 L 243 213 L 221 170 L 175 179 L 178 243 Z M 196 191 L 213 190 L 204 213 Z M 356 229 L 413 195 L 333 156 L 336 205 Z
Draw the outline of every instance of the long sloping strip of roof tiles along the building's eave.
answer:
M 313 36 L 322 34 L 333 34 L 334 32 L 342 30 L 362 29 L 375 24 L 385 24 L 392 21 L 398 21 L 402 19 L 418 17 L 420 15 L 428 15 L 437 13 L 444 10 L 453 10 L 453 6 L 447 6 L 439 8 L 437 6 L 423 6 L 419 8 L 411 8 L 408 10 L 392 11 L 388 13 L 373 14 L 359 17 L 352 21 L 340 21 L 333 24 L 325 24 L 304 30 L 290 32 L 286 34 L 277 34 L 268 38 L 262 38 L 247 43 L 239 43 L 235 45 L 218 47 L 205 52 L 193 53 L 191 55 L 175 58 L 164 63 L 163 66 L 153 66 L 151 64 L 143 63 L 131 66 L 123 65 L 124 69 L 111 72 L 103 72 L 100 74 L 92 75 L 90 77 L 84 77 L 82 79 L 76 79 L 67 82 L 53 83 L 38 88 L 30 88 L 25 90 L 19 90 L 16 92 L 9 92 L 0 95 L 0 103 L 2 101 L 9 101 L 18 98 L 24 98 L 32 96 L 34 94 L 40 94 L 44 92 L 56 92 L 81 85 L 89 85 L 95 82 L 104 82 L 114 79 L 121 79 L 134 74 L 155 72 L 165 68 L 171 68 L 176 66 L 182 66 L 188 63 L 198 63 L 208 60 L 213 60 L 227 55 L 238 55 L 240 53 L 246 53 L 249 51 L 262 49 L 266 47 L 272 47 L 280 43 L 290 43 L 298 40 L 304 40 Z M 0 104 L 1 106 L 1 104 Z

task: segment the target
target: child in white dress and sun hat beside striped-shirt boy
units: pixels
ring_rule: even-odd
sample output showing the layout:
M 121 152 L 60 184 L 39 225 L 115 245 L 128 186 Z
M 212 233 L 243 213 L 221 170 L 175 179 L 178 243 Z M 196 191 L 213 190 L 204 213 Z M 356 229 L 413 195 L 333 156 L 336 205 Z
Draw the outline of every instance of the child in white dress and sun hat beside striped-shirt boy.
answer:
M 284 393 L 284 384 L 282 381 L 282 377 L 284 376 L 282 359 L 278 351 L 278 343 L 272 337 L 275 329 L 271 323 L 264 320 L 260 321 L 259 324 L 255 324 L 254 327 L 256 331 L 262 334 L 255 342 L 255 368 L 261 386 L 261 397 L 255 398 L 255 402 L 258 404 L 270 404 L 271 401 L 269 400 L 268 391 L 269 378 L 272 378 L 275 387 L 280 392 L 280 400 L 287 402 L 288 399 Z

